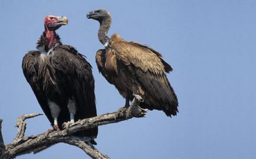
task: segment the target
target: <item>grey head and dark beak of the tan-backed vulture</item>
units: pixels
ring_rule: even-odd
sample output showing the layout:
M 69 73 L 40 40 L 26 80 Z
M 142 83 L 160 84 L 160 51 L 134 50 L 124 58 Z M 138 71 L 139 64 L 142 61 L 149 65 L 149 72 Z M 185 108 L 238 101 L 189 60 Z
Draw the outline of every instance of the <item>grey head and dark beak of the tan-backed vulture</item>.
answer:
M 110 13 L 106 9 L 96 9 L 87 13 L 88 19 L 95 19 L 96 21 L 103 21 L 106 18 L 110 18 Z

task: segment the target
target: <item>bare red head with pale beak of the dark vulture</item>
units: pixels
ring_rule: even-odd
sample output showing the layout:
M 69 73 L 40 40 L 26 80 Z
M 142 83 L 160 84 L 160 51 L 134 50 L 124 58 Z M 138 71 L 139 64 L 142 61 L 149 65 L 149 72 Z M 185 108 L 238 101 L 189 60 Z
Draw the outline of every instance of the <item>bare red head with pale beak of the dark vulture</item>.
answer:
M 55 31 L 62 25 L 67 25 L 68 19 L 65 16 L 47 15 L 44 18 L 45 30 Z

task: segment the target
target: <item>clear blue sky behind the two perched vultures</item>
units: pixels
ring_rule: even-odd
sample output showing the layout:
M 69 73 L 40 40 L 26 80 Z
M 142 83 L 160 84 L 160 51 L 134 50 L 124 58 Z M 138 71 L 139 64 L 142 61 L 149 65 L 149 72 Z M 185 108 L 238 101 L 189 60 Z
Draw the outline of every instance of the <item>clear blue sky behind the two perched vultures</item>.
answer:
M 97 70 L 99 22 L 93 9 L 112 15 L 109 36 L 144 43 L 162 53 L 174 71 L 168 79 L 179 99 L 172 119 L 149 111 L 143 119 L 101 126 L 97 148 L 111 158 L 256 157 L 255 1 L 2 1 L 0 4 L 0 118 L 5 144 L 21 114 L 42 113 L 22 74 L 22 57 L 35 50 L 46 15 L 64 15 L 62 42 L 87 56 L 96 80 L 98 114 L 124 105 Z M 27 120 L 26 135 L 50 128 L 45 116 Z M 17 158 L 89 158 L 57 144 Z

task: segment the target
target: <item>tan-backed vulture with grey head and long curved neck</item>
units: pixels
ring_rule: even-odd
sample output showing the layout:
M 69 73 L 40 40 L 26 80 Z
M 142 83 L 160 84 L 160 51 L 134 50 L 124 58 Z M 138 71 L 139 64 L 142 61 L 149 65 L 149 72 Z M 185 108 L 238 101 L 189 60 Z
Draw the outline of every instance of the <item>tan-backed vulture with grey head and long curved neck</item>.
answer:
M 172 67 L 162 55 L 149 46 L 127 42 L 117 33 L 109 38 L 111 16 L 105 9 L 88 12 L 87 18 L 100 22 L 98 38 L 105 49 L 96 53 L 97 67 L 126 99 L 125 107 L 139 96 L 144 99 L 139 104 L 142 109 L 162 110 L 166 116 L 176 116 L 178 99 L 165 74 Z

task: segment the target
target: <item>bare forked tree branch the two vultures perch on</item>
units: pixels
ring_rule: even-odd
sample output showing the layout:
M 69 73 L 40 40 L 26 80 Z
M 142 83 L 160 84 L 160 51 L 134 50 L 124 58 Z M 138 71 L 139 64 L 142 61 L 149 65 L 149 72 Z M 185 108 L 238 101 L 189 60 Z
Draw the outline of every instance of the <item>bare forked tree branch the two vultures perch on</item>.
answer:
M 145 116 L 144 110 L 136 111 L 136 117 Z M 38 153 L 39 151 L 45 150 L 46 148 L 56 143 L 67 143 L 73 146 L 77 146 L 81 148 L 86 154 L 90 155 L 91 158 L 109 158 L 107 155 L 101 154 L 99 150 L 97 150 L 93 145 L 91 145 L 89 141 L 93 140 L 93 138 L 77 137 L 72 136 L 72 134 L 80 130 L 86 130 L 88 128 L 93 128 L 111 123 L 118 123 L 123 120 L 131 119 L 132 116 L 126 116 L 126 113 L 127 109 L 120 109 L 113 113 L 106 113 L 101 116 L 78 120 L 76 123 L 66 125 L 64 130 L 46 131 L 45 133 L 28 137 L 24 136 L 26 130 L 25 120 L 31 117 L 39 116 L 41 114 L 34 113 L 22 115 L 17 120 L 17 136 L 15 137 L 14 141 L 12 141 L 12 143 L 6 145 L 5 148 L 3 148 L 3 150 L 5 150 L 4 158 L 15 158 L 18 155 L 27 154 L 31 152 Z M 4 146 L 3 142 L 2 145 Z

